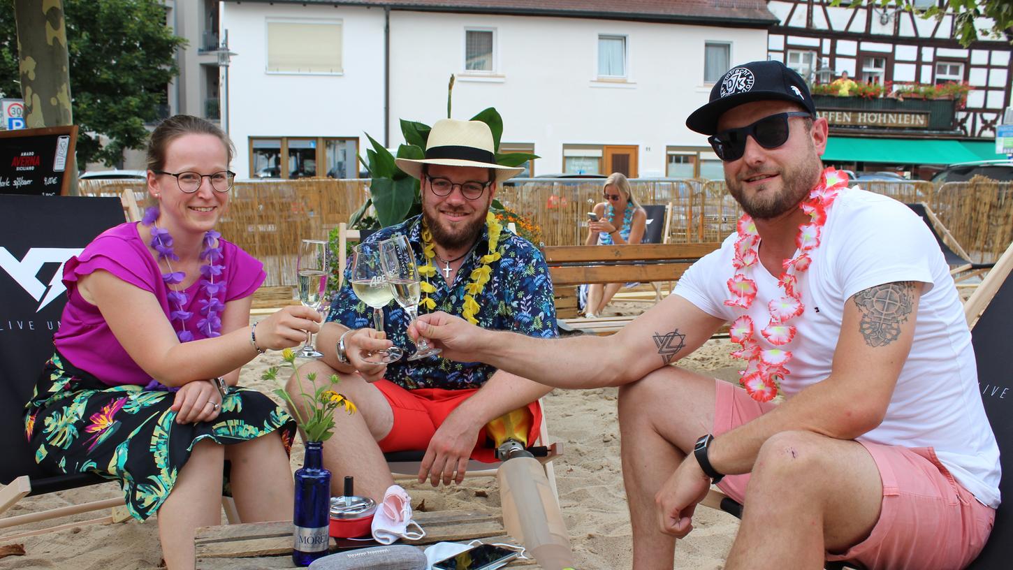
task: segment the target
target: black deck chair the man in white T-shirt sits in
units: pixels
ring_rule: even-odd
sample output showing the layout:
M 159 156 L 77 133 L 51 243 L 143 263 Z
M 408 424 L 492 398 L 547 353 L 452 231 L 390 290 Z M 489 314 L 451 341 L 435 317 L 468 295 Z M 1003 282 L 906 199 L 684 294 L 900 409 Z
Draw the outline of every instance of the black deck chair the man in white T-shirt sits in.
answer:
M 1003 477 L 999 492 L 1003 504 L 996 511 L 996 522 L 985 549 L 970 570 L 1006 570 L 1013 560 L 1013 368 L 1009 363 L 1013 341 L 1013 244 L 1010 244 L 992 270 L 963 304 L 970 326 L 971 344 L 978 361 L 978 382 L 983 389 L 985 413 L 999 443 L 999 463 Z M 720 508 L 736 517 L 743 505 L 711 489 L 701 502 Z M 843 563 L 829 563 L 827 569 L 851 568 Z

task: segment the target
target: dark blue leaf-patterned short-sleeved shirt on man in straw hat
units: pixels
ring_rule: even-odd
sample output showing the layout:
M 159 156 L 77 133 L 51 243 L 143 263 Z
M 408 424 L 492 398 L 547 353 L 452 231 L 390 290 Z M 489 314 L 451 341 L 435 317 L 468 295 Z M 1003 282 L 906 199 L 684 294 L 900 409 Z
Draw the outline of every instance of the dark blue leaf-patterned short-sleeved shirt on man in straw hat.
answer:
M 395 234 L 406 234 L 415 252 L 415 262 L 425 263 L 422 255 L 421 217 L 410 218 L 397 226 L 377 231 L 363 241 L 364 246 L 376 247 L 381 241 Z M 441 274 L 441 263 L 434 260 L 437 276 L 430 282 L 437 292 L 430 295 L 436 311 L 461 315 L 465 286 L 471 281 L 471 271 L 478 267 L 481 256 L 488 251 L 488 227 L 482 229 L 478 243 L 465 255 L 464 264 L 458 269 L 453 284 L 447 284 Z M 499 238 L 498 261 L 489 265 L 492 278 L 475 298 L 480 309 L 475 314 L 478 326 L 493 330 L 510 330 L 551 338 L 556 336 L 556 309 L 552 297 L 552 280 L 542 253 L 531 242 L 514 235 L 505 228 Z M 337 321 L 352 328 L 373 326 L 373 309 L 359 300 L 352 291 L 352 263 L 344 268 L 341 289 L 331 303 L 328 321 Z M 425 277 L 422 277 L 423 279 Z M 383 309 L 384 330 L 395 346 L 405 349 L 405 356 L 387 365 L 385 378 L 405 389 L 441 388 L 460 390 L 479 388 L 496 369 L 481 362 L 457 362 L 441 356 L 408 361 L 407 356 L 415 347 L 407 334 L 409 317 L 406 311 L 392 302 Z M 420 309 L 424 313 L 424 309 Z

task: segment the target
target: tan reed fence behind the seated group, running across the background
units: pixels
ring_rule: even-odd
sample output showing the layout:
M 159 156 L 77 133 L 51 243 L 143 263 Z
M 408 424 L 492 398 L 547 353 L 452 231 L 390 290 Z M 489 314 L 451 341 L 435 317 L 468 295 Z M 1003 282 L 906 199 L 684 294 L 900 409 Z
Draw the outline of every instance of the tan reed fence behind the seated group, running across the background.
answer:
M 670 243 L 720 241 L 735 230 L 742 212 L 723 181 L 633 179 L 641 203 L 672 203 Z M 867 190 L 901 201 L 924 201 L 938 215 L 973 261 L 999 258 L 1013 241 L 1013 183 L 977 178 L 940 187 L 926 181 L 868 181 Z M 134 191 L 143 203 L 143 182 L 82 180 L 85 195 Z M 496 197 L 538 225 L 545 245 L 579 245 L 587 238 L 587 212 L 602 201 L 600 179 L 515 179 Z M 294 284 L 301 239 L 326 239 L 328 232 L 369 195 L 368 179 L 306 179 L 237 182 L 222 234 L 264 262 L 267 286 Z

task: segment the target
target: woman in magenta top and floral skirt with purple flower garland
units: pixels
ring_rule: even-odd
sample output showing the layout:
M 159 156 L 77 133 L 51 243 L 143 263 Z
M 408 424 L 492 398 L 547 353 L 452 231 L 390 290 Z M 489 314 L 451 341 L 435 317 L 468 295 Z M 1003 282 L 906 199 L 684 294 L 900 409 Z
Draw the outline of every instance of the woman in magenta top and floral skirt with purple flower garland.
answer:
M 131 514 L 158 512 L 173 570 L 193 568 L 193 530 L 220 522 L 226 482 L 243 521 L 291 515 L 295 422 L 236 384 L 244 363 L 296 346 L 320 321 L 289 307 L 249 325 L 262 264 L 214 231 L 232 152 L 193 116 L 152 133 L 148 191 L 158 206 L 66 263 L 56 352 L 25 410 L 40 464 L 119 480 Z

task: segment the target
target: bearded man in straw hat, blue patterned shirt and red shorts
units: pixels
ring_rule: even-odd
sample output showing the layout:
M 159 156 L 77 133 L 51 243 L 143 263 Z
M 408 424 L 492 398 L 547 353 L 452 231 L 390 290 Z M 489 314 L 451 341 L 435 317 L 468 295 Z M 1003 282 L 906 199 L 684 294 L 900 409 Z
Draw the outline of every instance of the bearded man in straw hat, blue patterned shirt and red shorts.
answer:
M 489 213 L 498 184 L 523 169 L 495 163 L 488 126 L 440 120 L 424 159 L 396 162 L 420 181 L 422 214 L 376 232 L 363 246 L 407 236 L 422 279 L 419 311 L 439 309 L 484 328 L 555 336 L 552 283 L 541 252 Z M 469 458 L 494 461 L 485 424 L 518 409 L 530 411 L 522 435 L 534 441 L 541 421 L 537 400 L 550 388 L 480 362 L 439 356 L 408 361 L 414 346 L 406 334 L 407 313 L 388 306 L 386 334 L 373 330 L 372 310 L 356 298 L 349 276 L 350 263 L 317 335 L 324 356 L 300 369 L 304 379 L 312 372 L 319 378 L 336 372 L 341 392 L 361 412 L 335 413 L 335 436 L 324 443 L 334 489 L 352 475 L 357 494 L 380 500 L 393 484 L 381 452 L 397 451 L 426 451 L 419 481 L 461 482 Z M 405 357 L 390 364 L 365 359 L 392 344 Z M 295 380 L 288 390 L 298 401 Z

